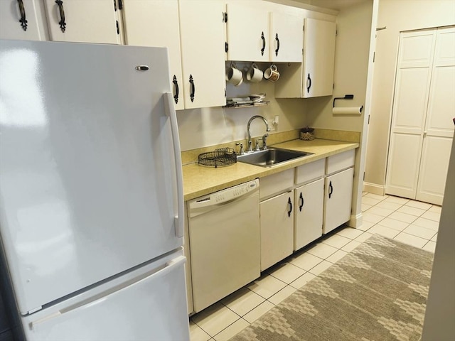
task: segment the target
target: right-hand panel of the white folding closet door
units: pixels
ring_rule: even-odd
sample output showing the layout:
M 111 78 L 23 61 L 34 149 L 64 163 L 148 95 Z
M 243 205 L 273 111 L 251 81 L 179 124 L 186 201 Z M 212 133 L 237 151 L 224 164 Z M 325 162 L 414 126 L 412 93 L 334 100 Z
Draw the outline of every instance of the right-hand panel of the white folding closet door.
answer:
M 455 27 L 437 31 L 417 200 L 442 204 L 455 117 Z

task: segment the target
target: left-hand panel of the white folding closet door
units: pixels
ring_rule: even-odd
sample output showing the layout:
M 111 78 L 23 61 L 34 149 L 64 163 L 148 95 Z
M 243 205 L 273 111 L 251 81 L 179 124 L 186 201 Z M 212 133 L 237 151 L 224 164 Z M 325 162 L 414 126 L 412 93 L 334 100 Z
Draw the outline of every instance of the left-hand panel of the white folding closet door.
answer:
M 392 195 L 416 195 L 435 37 L 435 30 L 400 36 L 385 188 Z

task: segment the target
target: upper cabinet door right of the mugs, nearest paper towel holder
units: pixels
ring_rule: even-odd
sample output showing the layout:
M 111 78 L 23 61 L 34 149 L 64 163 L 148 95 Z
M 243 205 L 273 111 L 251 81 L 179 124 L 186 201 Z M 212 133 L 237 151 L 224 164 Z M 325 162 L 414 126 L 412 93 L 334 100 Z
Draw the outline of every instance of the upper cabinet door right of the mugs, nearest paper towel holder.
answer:
M 336 23 L 305 18 L 302 97 L 333 93 Z

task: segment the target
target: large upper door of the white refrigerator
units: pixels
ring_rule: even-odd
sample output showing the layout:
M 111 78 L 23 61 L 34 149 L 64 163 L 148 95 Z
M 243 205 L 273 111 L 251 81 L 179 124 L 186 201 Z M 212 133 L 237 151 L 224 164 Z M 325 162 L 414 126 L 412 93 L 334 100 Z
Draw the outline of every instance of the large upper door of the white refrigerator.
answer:
M 22 314 L 182 245 L 166 48 L 1 40 L 0 74 L 0 237 Z

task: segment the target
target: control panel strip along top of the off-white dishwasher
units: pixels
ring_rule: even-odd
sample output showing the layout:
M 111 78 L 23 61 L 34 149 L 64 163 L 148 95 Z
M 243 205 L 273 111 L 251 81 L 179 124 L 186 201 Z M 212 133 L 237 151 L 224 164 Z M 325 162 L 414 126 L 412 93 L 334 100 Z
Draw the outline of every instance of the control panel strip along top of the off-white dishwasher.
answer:
M 235 185 L 233 187 L 226 188 L 225 190 L 220 190 L 219 192 L 204 195 L 198 199 L 191 200 L 189 202 L 189 207 L 191 209 L 196 207 L 217 205 L 223 202 L 234 200 L 237 197 L 242 197 L 243 195 L 247 195 L 257 190 L 259 190 L 258 179 L 249 181 L 247 183 L 241 183 L 240 185 Z

